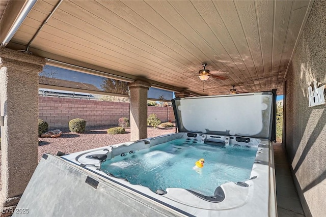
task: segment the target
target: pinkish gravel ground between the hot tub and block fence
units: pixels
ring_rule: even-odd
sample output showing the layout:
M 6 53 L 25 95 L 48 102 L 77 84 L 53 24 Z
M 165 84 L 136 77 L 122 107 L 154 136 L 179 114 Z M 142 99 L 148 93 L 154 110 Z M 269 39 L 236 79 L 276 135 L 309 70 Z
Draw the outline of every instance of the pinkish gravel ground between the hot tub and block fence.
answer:
M 38 161 L 40 161 L 43 153 L 57 154 L 58 151 L 64 153 L 73 153 L 77 151 L 88 150 L 92 148 L 102 147 L 106 145 L 114 145 L 122 142 L 130 141 L 130 129 L 126 129 L 125 134 L 111 135 L 106 130 L 109 127 L 87 128 L 85 133 L 71 133 L 63 131 L 58 138 L 39 138 Z M 155 137 L 175 133 L 175 128 L 147 128 L 147 137 Z M 1 165 L 1 151 L 0 151 Z M 1 180 L 1 170 L 0 170 Z M 0 182 L 1 191 L 1 182 Z

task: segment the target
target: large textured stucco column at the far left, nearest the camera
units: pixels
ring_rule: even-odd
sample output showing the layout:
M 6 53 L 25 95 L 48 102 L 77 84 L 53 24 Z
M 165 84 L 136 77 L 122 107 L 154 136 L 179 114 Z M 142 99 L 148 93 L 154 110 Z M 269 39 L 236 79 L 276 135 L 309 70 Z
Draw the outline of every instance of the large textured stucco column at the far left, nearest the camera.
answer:
M 0 56 L 0 208 L 6 212 L 18 203 L 38 163 L 38 73 L 45 58 L 4 47 Z

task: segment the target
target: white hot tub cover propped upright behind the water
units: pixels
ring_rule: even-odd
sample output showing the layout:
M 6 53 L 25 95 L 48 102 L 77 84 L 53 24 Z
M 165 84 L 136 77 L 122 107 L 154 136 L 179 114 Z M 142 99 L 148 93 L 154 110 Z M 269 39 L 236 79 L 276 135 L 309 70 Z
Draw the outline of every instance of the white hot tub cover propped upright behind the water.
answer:
M 271 92 L 189 97 L 174 103 L 179 132 L 270 139 Z

